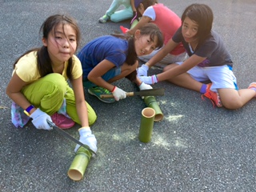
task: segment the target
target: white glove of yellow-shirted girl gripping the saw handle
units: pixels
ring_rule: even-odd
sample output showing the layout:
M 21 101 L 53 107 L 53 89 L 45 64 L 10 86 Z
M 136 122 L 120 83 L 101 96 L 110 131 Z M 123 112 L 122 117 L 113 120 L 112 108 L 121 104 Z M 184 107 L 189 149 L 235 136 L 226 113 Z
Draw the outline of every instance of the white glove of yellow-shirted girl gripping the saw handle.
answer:
M 39 108 L 35 110 L 32 114 L 30 114 L 30 118 L 33 118 L 32 123 L 38 130 L 52 130 L 53 128 L 50 127 L 47 123 L 47 119 L 52 122 L 50 116 L 40 110 Z

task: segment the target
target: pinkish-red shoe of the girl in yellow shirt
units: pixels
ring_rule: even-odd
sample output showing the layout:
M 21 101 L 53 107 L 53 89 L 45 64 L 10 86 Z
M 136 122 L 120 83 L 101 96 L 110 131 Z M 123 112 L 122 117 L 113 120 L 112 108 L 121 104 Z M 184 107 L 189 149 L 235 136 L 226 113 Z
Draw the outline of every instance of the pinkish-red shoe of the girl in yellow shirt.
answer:
M 63 114 L 55 113 L 51 115 L 50 118 L 56 126 L 63 130 L 70 129 L 75 124 L 71 118 L 66 118 Z

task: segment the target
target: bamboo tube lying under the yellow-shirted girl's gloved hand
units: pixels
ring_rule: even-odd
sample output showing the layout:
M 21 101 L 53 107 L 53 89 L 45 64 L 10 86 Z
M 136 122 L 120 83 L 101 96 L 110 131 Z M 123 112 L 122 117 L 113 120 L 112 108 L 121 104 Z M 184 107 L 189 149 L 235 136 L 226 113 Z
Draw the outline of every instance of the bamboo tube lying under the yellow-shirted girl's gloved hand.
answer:
M 68 176 L 74 181 L 80 181 L 86 171 L 91 158 L 91 153 L 83 147 L 80 147 L 74 156 L 74 160 L 68 170 Z

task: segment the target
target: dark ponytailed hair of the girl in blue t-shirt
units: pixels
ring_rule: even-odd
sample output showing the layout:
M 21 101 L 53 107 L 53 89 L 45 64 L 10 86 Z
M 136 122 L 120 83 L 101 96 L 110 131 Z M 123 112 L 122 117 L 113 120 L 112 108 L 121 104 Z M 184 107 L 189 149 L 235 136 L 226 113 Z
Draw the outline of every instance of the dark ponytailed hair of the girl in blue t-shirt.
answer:
M 150 40 L 154 41 L 154 38 L 157 37 L 158 42 L 156 43 L 156 48 L 159 49 L 163 46 L 163 35 L 162 31 L 158 28 L 157 25 L 154 23 L 147 23 L 145 26 L 142 26 L 140 29 L 140 34 L 142 36 L 144 35 L 150 35 Z M 124 38 L 128 41 L 128 49 L 127 51 L 127 57 L 126 57 L 126 63 L 129 66 L 133 66 L 136 60 L 138 59 L 136 51 L 135 51 L 135 45 L 134 45 L 134 37 L 130 37 L 130 35 L 127 34 L 112 34 L 115 37 L 118 38 Z

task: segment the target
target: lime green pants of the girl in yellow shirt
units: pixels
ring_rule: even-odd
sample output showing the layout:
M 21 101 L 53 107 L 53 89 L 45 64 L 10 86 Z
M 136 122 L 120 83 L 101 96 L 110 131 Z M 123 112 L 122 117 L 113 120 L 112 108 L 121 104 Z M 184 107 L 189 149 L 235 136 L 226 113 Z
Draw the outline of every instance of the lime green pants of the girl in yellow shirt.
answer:
M 35 107 L 39 107 L 46 114 L 56 113 L 66 98 L 66 114 L 74 122 L 81 125 L 75 106 L 74 91 L 70 88 L 61 74 L 48 74 L 38 81 L 25 86 L 22 94 Z M 92 125 L 97 118 L 93 108 L 86 102 L 89 124 Z

